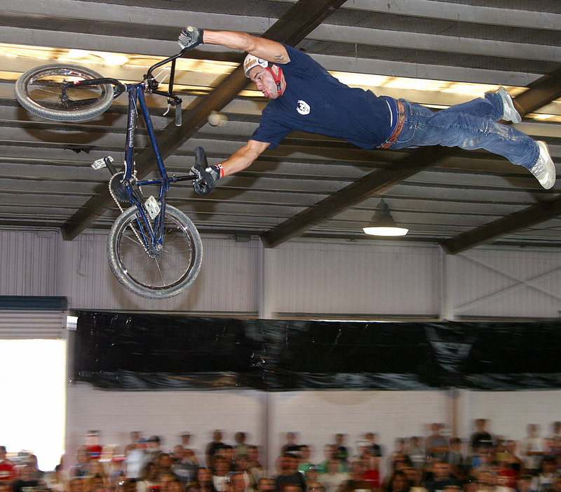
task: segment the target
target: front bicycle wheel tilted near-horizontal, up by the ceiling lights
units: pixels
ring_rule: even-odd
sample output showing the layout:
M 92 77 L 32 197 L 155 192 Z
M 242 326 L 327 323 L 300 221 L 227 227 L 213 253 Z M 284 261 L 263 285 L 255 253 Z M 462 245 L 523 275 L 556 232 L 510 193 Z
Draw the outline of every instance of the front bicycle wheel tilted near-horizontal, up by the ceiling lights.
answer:
M 113 86 L 69 86 L 66 81 L 101 79 L 77 65 L 43 65 L 27 70 L 15 82 L 15 98 L 27 111 L 56 121 L 83 121 L 102 114 L 113 102 Z

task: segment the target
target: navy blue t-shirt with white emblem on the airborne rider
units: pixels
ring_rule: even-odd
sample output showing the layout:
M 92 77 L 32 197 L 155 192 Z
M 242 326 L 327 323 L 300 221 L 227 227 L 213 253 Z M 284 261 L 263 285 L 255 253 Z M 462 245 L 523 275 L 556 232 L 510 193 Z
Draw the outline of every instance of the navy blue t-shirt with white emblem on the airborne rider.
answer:
M 265 106 L 252 140 L 269 142 L 274 149 L 300 130 L 373 149 L 389 138 L 391 112 L 384 98 L 342 84 L 306 53 L 284 46 L 290 57 L 280 65 L 286 90 Z

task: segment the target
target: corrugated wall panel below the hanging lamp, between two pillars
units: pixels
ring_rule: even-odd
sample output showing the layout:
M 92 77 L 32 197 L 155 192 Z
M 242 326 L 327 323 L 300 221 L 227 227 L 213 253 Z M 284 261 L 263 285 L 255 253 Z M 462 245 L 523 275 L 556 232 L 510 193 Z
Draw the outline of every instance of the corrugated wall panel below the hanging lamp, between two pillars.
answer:
M 439 258 L 433 246 L 285 244 L 276 253 L 276 310 L 438 317 Z

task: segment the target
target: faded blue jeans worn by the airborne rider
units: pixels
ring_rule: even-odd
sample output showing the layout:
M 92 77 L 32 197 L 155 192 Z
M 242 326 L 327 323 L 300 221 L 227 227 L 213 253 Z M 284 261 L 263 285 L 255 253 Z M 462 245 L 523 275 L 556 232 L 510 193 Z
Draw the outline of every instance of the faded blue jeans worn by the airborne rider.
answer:
M 503 115 L 499 94 L 485 94 L 485 99 L 474 99 L 438 112 L 401 101 L 405 106 L 405 124 L 391 149 L 424 145 L 486 149 L 525 168 L 531 168 L 538 160 L 539 147 L 532 138 L 497 122 Z

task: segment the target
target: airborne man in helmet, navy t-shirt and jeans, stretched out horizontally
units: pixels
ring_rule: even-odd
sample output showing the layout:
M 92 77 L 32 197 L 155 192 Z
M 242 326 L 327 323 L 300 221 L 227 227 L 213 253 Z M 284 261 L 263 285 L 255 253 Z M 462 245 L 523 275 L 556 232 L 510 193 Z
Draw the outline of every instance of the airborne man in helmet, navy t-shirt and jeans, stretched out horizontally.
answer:
M 341 138 L 362 149 L 403 149 L 443 145 L 487 149 L 524 166 L 541 186 L 555 183 L 555 165 L 545 142 L 534 141 L 500 120 L 522 118 L 505 88 L 439 112 L 378 97 L 332 77 L 309 55 L 277 41 L 243 32 L 185 27 L 182 48 L 215 44 L 247 51 L 245 75 L 269 99 L 248 143 L 220 164 L 206 168 L 217 180 L 247 168 L 265 149 L 274 149 L 292 131 Z

